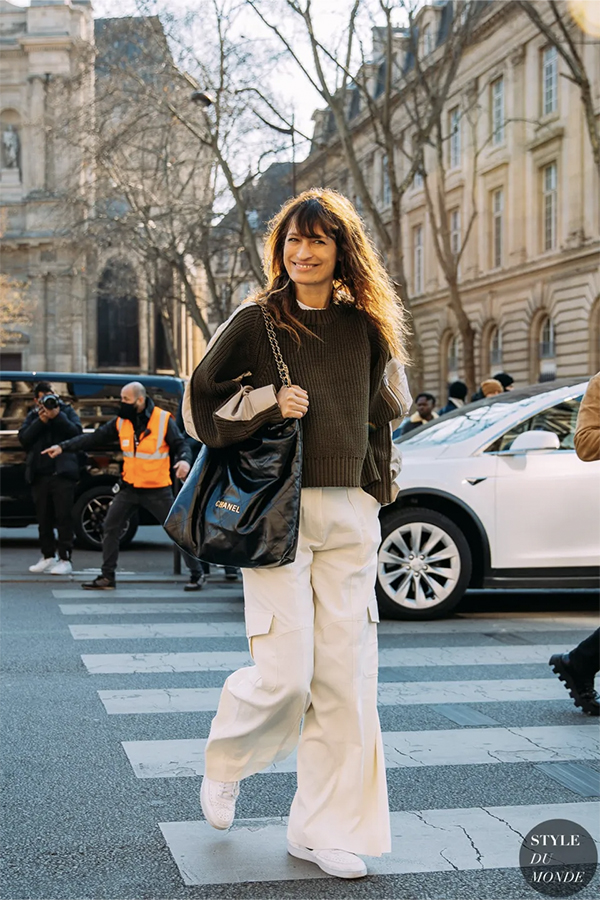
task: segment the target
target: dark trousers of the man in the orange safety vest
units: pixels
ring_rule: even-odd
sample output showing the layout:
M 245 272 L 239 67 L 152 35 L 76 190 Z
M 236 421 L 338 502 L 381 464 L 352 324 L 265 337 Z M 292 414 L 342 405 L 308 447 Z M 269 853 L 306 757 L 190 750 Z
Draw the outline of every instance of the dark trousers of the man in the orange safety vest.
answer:
M 102 574 L 113 579 L 119 558 L 119 535 L 127 519 L 139 507 L 147 509 L 158 522 L 163 525 L 173 505 L 173 489 L 134 488 L 124 484 L 108 507 L 104 519 L 104 537 L 102 540 Z M 192 575 L 200 575 L 202 566 L 199 560 L 187 553 L 182 554 L 185 564 Z

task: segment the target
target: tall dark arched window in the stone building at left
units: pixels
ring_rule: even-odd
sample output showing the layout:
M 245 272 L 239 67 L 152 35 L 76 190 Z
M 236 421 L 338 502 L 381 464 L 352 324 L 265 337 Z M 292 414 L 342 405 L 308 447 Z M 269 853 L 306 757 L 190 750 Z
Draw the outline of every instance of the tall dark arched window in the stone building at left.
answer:
M 98 282 L 98 366 L 137 368 L 140 329 L 137 279 L 129 263 L 111 260 Z

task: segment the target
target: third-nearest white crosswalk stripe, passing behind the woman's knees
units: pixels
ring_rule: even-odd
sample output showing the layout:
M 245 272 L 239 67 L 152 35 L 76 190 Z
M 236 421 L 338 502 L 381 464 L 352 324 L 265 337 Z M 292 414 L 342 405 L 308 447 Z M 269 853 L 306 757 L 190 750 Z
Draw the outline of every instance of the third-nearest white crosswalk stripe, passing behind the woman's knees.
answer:
M 98 691 L 109 715 L 215 712 L 221 688 L 159 688 Z M 522 703 L 564 700 L 558 679 L 503 678 L 494 681 L 404 681 L 379 685 L 380 706 L 439 703 Z

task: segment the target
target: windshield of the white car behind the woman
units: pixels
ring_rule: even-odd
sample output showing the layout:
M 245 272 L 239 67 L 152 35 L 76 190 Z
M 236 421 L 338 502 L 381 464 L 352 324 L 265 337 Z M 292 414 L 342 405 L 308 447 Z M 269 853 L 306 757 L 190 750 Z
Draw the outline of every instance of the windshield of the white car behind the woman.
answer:
M 498 397 L 491 402 L 481 401 L 443 416 L 430 425 L 419 428 L 416 432 L 400 438 L 397 443 L 409 444 L 412 447 L 434 447 L 440 444 L 456 444 L 475 437 L 491 425 L 501 422 L 515 412 L 527 415 L 532 407 L 539 406 L 539 396 L 525 397 L 515 403 L 514 397 Z M 510 404 L 510 405 L 509 405 Z

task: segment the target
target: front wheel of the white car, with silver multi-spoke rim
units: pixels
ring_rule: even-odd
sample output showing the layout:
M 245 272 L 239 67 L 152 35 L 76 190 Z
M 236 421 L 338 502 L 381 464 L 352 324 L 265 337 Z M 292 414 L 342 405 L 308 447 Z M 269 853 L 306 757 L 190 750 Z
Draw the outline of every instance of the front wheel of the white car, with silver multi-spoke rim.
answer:
M 377 600 L 393 619 L 436 619 L 457 605 L 471 578 L 471 550 L 460 528 L 432 509 L 382 516 Z

